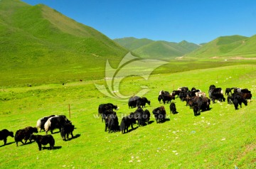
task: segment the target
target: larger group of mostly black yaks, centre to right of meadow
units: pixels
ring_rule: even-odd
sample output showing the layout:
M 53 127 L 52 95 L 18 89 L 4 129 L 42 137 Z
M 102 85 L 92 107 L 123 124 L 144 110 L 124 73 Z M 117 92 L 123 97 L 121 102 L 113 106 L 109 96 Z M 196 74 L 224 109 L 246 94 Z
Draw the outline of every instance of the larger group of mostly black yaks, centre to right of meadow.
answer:
M 233 93 L 232 93 L 233 90 Z M 181 102 L 186 101 L 186 106 L 189 106 L 193 109 L 194 116 L 198 116 L 200 111 L 210 110 L 210 102 L 213 104 L 217 100 L 218 102 L 225 102 L 225 97 L 223 94 L 223 89 L 220 87 L 215 87 L 215 85 L 210 85 L 208 90 L 209 98 L 206 97 L 205 92 L 201 92 L 200 89 L 192 88 L 191 90 L 188 87 L 180 87 L 178 90 L 171 92 L 160 91 L 158 96 L 159 103 L 164 102 L 164 104 L 171 102 L 179 97 Z M 227 95 L 228 104 L 234 104 L 235 109 L 238 109 L 238 106 L 242 107 L 242 103 L 247 106 L 247 100 L 252 98 L 252 94 L 248 89 L 241 89 L 237 87 L 226 88 L 225 95 Z M 149 124 L 150 112 L 148 109 L 143 110 L 146 104 L 150 105 L 150 101 L 146 97 L 131 97 L 128 101 L 129 108 L 137 109 L 122 118 L 121 124 L 119 126 L 117 113 L 114 109 L 117 110 L 117 106 L 112 103 L 100 104 L 98 107 L 99 116 L 102 116 L 102 121 L 105 121 L 105 131 L 116 132 L 121 131 L 122 133 L 128 132 L 129 126 L 134 129 L 133 124 L 138 124 L 139 126 L 144 126 Z M 176 105 L 174 102 L 170 104 L 171 114 L 177 114 Z M 166 120 L 166 110 L 164 106 L 157 107 L 152 111 L 156 123 L 164 122 Z

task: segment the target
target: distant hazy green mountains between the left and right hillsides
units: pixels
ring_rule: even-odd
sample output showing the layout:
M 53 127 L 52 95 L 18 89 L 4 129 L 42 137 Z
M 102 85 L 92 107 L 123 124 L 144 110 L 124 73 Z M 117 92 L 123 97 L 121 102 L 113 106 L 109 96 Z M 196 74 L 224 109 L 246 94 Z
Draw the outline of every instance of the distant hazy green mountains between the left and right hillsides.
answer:
M 146 38 L 117 38 L 114 39 L 114 41 L 142 58 L 173 59 L 200 48 L 200 45 L 188 43 L 186 40 L 180 43 L 173 43 L 164 40 L 149 40 Z

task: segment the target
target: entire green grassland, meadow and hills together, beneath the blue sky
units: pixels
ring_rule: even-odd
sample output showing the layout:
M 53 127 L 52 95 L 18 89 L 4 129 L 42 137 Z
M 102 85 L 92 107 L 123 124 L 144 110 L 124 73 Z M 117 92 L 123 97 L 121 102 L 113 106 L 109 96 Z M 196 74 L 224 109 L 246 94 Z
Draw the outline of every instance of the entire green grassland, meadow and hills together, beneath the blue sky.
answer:
M 127 100 L 105 96 L 95 84 L 106 84 L 106 60 L 115 69 L 128 50 L 48 6 L 1 0 L 0 129 L 16 132 L 51 114 L 69 117 L 69 105 L 76 129 L 70 141 L 62 141 L 56 131 L 53 151 L 38 151 L 36 143 L 16 147 L 10 137 L 6 146 L 0 141 L 0 168 L 255 168 L 255 37 L 216 38 L 181 58 L 168 58 L 168 51 L 181 56 L 177 49 L 185 53 L 193 44 L 183 41 L 174 48 L 164 41 L 134 43 L 130 38 L 131 48 L 151 46 L 146 50 L 154 53 L 153 58 L 159 59 L 164 51 L 169 62 L 154 70 L 149 80 L 128 76 L 121 81 L 123 95 L 149 87 L 149 111 L 163 105 L 157 101 L 159 90 L 171 92 L 182 86 L 205 92 L 210 84 L 248 88 L 252 102 L 237 111 L 218 102 L 193 116 L 192 109 L 176 99 L 179 113 L 170 114 L 169 104 L 164 105 L 169 120 L 163 124 L 156 124 L 152 116 L 151 124 L 134 125 L 129 133 L 107 133 L 97 116 L 99 104 L 117 104 L 119 123 L 135 109 L 128 108 Z M 155 62 L 148 63 L 150 67 Z M 138 71 L 149 73 L 140 65 L 127 70 L 131 75 Z

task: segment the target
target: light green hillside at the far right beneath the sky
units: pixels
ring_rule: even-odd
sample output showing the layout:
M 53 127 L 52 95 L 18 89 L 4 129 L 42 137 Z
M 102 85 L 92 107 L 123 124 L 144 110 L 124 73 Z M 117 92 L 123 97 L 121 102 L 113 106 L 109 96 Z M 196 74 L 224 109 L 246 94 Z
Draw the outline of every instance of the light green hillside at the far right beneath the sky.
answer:
M 185 58 L 255 57 L 256 36 L 221 36 L 201 48 L 185 55 Z

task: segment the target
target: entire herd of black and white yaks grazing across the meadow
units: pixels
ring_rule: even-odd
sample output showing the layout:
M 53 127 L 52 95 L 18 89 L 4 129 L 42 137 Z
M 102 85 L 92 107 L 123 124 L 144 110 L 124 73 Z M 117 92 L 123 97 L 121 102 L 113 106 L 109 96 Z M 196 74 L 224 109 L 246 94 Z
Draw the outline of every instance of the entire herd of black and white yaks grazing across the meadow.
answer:
M 232 93 L 233 90 L 233 93 Z M 215 103 L 215 100 L 219 102 L 225 102 L 225 97 L 223 95 L 223 90 L 219 87 L 216 88 L 215 85 L 210 85 L 208 90 L 209 98 L 206 97 L 205 92 L 201 92 L 200 89 L 195 89 L 194 87 L 189 90 L 188 87 L 180 87 L 178 90 L 171 92 L 160 91 L 158 96 L 159 103 L 164 102 L 164 104 L 171 102 L 172 99 L 176 99 L 179 97 L 181 102 L 186 101 L 186 106 L 189 106 L 193 109 L 194 116 L 198 116 L 200 111 L 210 110 L 210 101 Z M 241 89 L 237 87 L 227 88 L 225 90 L 225 95 L 228 96 L 228 104 L 234 104 L 235 109 L 238 109 L 238 106 L 242 107 L 242 103 L 247 106 L 247 100 L 250 101 L 252 98 L 252 94 L 248 89 Z M 105 121 L 105 131 L 116 132 L 122 131 L 122 133 L 128 132 L 129 126 L 133 128 L 133 124 L 138 124 L 139 126 L 144 126 L 149 124 L 150 121 L 150 112 L 147 109 L 143 109 L 146 104 L 150 105 L 150 101 L 146 99 L 146 97 L 131 97 L 128 102 L 129 108 L 137 109 L 129 114 L 128 116 L 124 116 L 122 118 L 121 124 L 119 126 L 117 113 L 113 111 L 113 109 L 117 110 L 117 106 L 112 103 L 100 104 L 98 107 L 99 116 L 102 116 L 102 121 Z M 171 114 L 177 114 L 176 105 L 174 102 L 170 104 Z M 156 123 L 166 121 L 166 110 L 164 106 L 157 107 L 152 111 L 154 114 L 154 118 L 156 119 Z M 38 133 L 38 129 L 43 129 L 46 131 L 46 135 L 33 135 L 33 133 Z M 38 119 L 36 123 L 36 127 L 28 126 L 25 129 L 19 129 L 14 132 L 8 131 L 7 129 L 3 129 L 0 131 L 0 140 L 4 140 L 4 145 L 6 145 L 7 137 L 14 137 L 16 142 L 16 146 L 18 146 L 18 141 L 23 144 L 29 141 L 36 141 L 38 143 L 39 151 L 41 151 L 42 145 L 50 144 L 50 149 L 53 149 L 55 144 L 55 140 L 52 135 L 48 135 L 48 131 L 53 133 L 53 130 L 59 129 L 60 136 L 63 138 L 63 141 L 66 140 L 66 136 L 68 138 L 69 135 L 73 138 L 73 130 L 75 126 L 67 119 L 64 115 L 51 115 L 45 116 L 41 119 Z M 24 142 L 23 142 L 24 140 Z

